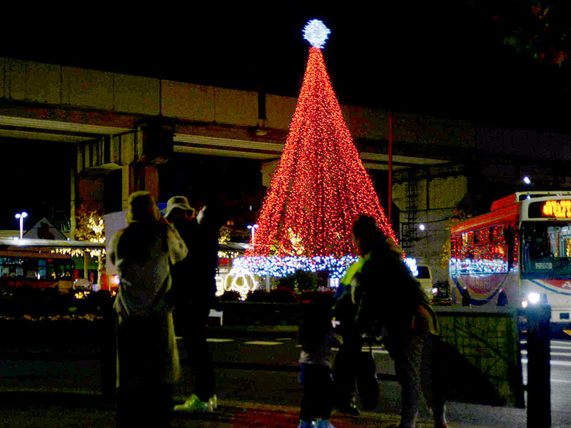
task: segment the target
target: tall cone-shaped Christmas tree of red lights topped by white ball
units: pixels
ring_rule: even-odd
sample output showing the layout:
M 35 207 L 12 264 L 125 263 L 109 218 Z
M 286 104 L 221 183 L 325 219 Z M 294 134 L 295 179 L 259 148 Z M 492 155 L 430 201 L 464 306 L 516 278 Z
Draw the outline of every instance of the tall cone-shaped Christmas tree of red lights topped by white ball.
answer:
M 342 276 L 355 260 L 351 229 L 362 214 L 396 243 L 325 68 L 329 32 L 318 20 L 304 29 L 312 46 L 288 138 L 250 248 L 238 260 L 256 275 L 303 269 Z

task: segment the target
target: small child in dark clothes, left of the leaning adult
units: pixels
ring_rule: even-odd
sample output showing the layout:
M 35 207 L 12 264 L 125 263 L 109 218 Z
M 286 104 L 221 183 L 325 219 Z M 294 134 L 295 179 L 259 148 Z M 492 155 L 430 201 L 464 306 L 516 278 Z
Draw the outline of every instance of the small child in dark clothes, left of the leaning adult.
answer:
M 331 323 L 331 303 L 329 295 L 315 298 L 308 305 L 298 332 L 303 386 L 298 428 L 335 428 L 329 422 L 333 407 L 331 367 L 332 347 L 338 346 L 339 340 Z

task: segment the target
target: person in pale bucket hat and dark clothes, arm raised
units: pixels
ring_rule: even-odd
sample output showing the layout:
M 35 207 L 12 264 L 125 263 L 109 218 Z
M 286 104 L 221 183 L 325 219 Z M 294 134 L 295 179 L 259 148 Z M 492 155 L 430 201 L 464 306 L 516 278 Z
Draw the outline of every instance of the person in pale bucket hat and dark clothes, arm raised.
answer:
M 198 214 L 185 196 L 167 202 L 165 217 L 181 233 L 189 253 L 173 267 L 173 289 L 168 300 L 174 307 L 175 327 L 181 335 L 186 358 L 195 376 L 195 391 L 174 409 L 183 412 L 212 412 L 218 406 L 214 366 L 207 339 L 207 321 L 215 305 L 218 266 L 218 214 L 209 205 Z M 188 283 L 192 282 L 191 287 Z

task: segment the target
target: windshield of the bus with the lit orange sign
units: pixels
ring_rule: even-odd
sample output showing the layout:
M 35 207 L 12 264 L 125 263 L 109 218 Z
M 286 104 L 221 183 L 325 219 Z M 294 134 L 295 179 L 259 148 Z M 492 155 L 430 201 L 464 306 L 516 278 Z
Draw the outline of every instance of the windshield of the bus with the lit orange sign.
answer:
M 571 274 L 571 222 L 522 223 L 522 275 Z

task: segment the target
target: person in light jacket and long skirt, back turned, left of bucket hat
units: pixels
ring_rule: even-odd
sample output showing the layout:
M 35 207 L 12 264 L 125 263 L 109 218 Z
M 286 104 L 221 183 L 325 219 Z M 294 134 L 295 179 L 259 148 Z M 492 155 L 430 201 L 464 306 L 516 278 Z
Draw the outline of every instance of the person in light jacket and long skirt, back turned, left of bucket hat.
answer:
M 171 265 L 188 249 L 161 218 L 151 194 L 131 193 L 127 227 L 111 238 L 109 258 L 119 285 L 117 314 L 117 427 L 168 427 L 178 350 L 166 304 Z

